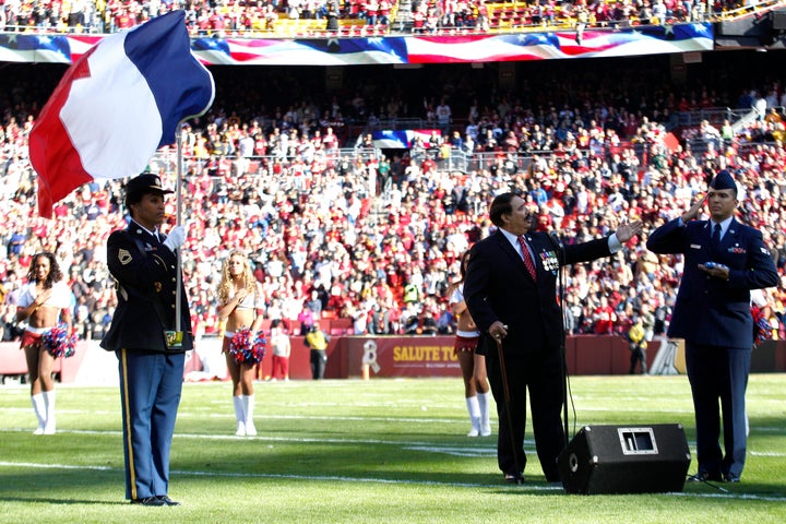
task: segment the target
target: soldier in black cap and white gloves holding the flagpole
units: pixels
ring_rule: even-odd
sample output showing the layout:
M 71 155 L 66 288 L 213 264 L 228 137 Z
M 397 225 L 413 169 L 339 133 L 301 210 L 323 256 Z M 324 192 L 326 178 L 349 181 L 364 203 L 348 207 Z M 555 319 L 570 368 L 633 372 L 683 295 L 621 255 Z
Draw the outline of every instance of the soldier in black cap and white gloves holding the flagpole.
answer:
M 117 281 L 118 307 L 102 347 L 119 360 L 126 455 L 126 498 L 142 505 L 178 505 L 167 496 L 169 450 L 182 390 L 184 354 L 193 347 L 191 314 L 180 286 L 180 325 L 176 322 L 177 249 L 186 229 L 166 237 L 164 195 L 155 175 L 126 184 L 128 228 L 107 243 L 109 272 Z

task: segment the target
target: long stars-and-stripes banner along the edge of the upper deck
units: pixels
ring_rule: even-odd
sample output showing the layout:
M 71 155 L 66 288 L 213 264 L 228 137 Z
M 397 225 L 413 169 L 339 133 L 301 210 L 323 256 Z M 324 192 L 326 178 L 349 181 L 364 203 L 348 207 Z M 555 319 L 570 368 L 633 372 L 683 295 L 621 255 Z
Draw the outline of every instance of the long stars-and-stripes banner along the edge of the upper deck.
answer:
M 719 21 L 463 35 L 338 38 L 192 37 L 206 66 L 369 66 L 483 63 L 786 48 L 786 1 L 725 13 Z M 71 63 L 102 35 L 0 33 L 0 62 Z

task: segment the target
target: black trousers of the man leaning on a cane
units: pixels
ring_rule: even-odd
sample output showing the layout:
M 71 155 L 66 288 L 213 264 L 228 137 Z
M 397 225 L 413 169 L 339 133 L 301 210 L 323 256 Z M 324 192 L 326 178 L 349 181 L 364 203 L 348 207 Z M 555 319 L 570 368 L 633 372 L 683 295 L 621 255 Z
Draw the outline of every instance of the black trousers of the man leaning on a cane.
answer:
M 511 402 L 511 420 L 509 421 L 499 354 L 493 346 L 492 343 L 487 348 L 486 367 L 499 417 L 497 438 L 499 468 L 503 473 L 514 473 L 516 458 L 521 469 L 519 473 L 523 473 L 526 465 L 524 431 L 528 392 L 535 449 L 540 467 L 547 481 L 558 481 L 560 476 L 557 469 L 557 455 L 565 444 L 561 415 L 563 403 L 562 357 L 558 350 L 505 357 Z

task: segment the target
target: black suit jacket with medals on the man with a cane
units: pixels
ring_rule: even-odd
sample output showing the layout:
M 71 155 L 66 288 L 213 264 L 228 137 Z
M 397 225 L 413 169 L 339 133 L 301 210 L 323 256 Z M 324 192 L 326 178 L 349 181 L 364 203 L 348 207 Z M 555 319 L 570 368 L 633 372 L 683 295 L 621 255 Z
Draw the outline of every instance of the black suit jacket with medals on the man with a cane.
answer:
M 557 303 L 561 265 L 608 257 L 608 238 L 564 246 L 563 254 L 545 233 L 525 235 L 535 255 L 537 282 L 510 241 L 497 231 L 469 253 L 464 300 L 484 335 L 496 321 L 508 325 L 505 354 L 557 350 L 562 342 L 562 313 Z

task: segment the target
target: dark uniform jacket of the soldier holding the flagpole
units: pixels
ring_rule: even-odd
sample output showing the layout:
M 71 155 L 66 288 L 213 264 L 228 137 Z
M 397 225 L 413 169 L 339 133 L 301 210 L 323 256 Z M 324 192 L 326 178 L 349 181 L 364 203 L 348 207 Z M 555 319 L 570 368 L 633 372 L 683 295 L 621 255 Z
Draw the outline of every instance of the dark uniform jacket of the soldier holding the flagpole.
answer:
M 107 263 L 118 284 L 118 307 L 102 347 L 109 352 L 123 348 L 171 352 L 167 349 L 164 331 L 175 330 L 177 255 L 154 235 L 131 222 L 127 229 L 109 235 Z M 177 352 L 186 352 L 193 348 L 193 337 L 182 285 L 180 297 L 183 342 Z

